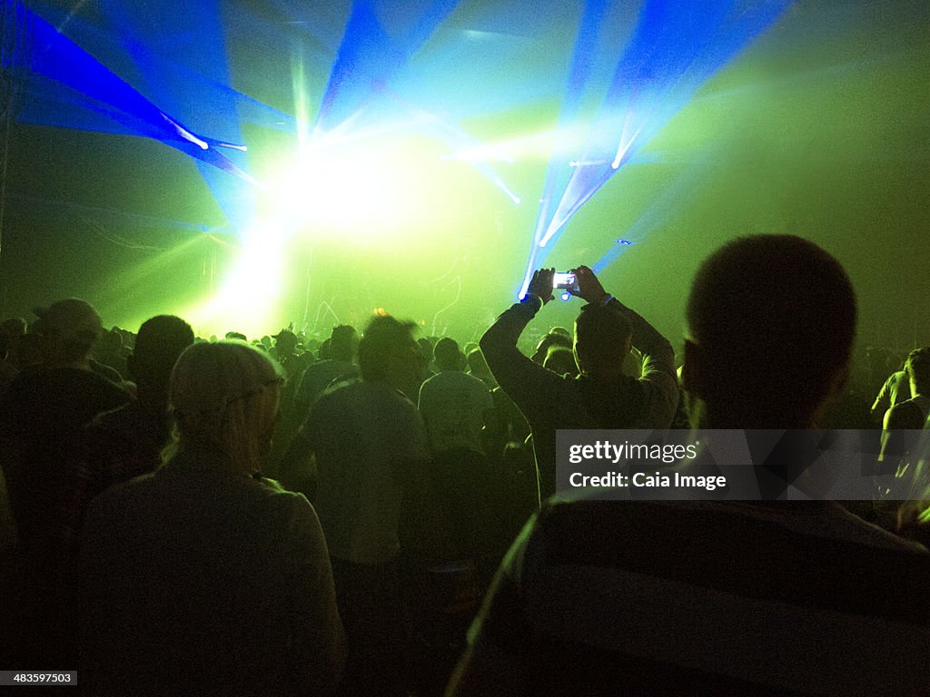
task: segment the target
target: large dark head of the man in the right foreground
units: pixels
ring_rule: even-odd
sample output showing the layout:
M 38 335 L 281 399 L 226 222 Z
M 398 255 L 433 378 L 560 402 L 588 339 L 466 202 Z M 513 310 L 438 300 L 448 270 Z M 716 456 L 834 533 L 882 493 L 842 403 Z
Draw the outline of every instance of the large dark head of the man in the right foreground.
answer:
M 687 323 L 684 388 L 709 426 L 810 427 L 848 375 L 856 296 L 817 244 L 740 238 L 697 271 Z

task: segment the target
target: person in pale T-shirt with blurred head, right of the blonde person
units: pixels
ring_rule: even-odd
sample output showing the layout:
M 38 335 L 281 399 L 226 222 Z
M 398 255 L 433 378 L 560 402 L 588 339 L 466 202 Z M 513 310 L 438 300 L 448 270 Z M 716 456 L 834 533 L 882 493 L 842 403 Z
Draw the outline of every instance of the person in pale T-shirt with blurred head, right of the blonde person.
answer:
M 312 504 L 349 643 L 345 694 L 404 693 L 400 524 L 428 458 L 422 419 L 402 392 L 422 367 L 413 327 L 390 316 L 369 322 L 359 342 L 362 380 L 320 397 L 286 456 L 315 459 Z

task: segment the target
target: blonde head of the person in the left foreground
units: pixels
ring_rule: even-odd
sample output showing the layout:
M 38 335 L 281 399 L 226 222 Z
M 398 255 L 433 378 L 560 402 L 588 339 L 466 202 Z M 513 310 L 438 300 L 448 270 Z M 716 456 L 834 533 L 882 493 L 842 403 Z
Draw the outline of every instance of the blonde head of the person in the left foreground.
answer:
M 242 341 L 186 349 L 170 386 L 180 451 L 217 454 L 241 474 L 259 471 L 271 450 L 283 380 L 277 363 Z

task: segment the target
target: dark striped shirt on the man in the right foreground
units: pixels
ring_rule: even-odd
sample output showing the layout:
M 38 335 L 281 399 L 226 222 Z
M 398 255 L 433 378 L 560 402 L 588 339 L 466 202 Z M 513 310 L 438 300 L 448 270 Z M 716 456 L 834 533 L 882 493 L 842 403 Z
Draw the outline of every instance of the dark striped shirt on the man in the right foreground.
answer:
M 830 502 L 549 503 L 454 693 L 925 694 L 928 583 L 922 546 Z

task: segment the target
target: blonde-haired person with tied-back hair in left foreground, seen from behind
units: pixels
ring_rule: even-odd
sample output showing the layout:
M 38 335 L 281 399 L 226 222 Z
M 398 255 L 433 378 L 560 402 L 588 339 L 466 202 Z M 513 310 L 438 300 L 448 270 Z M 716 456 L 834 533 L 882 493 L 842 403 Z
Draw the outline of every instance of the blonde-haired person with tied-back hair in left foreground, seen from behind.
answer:
M 82 534 L 81 679 L 108 694 L 330 694 L 344 638 L 326 540 L 259 474 L 280 367 L 245 342 L 175 365 L 175 453 L 94 500 Z

